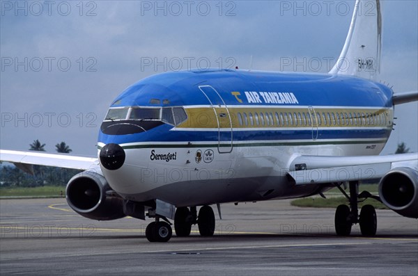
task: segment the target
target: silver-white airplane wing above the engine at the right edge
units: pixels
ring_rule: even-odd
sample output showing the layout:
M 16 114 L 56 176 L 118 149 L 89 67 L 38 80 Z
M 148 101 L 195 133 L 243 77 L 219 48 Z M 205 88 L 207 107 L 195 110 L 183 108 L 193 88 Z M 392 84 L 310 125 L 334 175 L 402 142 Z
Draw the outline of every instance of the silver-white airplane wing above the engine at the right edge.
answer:
M 386 156 L 297 156 L 288 174 L 295 184 L 381 179 L 395 168 L 418 170 L 418 153 Z

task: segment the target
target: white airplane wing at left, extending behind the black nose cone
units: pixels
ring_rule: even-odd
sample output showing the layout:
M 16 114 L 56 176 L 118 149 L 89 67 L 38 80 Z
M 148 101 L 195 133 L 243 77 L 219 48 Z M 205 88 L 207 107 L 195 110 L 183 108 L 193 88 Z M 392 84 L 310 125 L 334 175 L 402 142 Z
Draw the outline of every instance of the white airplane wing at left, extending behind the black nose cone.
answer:
M 48 165 L 59 168 L 88 170 L 98 166 L 97 158 L 45 152 L 20 152 L 0 149 L 0 161 L 14 163 L 17 168 L 33 174 L 32 165 Z

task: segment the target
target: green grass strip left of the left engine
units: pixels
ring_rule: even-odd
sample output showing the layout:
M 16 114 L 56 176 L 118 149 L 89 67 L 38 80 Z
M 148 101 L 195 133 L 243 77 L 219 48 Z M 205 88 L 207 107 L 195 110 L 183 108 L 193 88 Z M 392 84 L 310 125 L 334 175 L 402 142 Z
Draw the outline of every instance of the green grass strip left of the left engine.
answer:
M 0 197 L 65 197 L 65 186 L 1 187 Z

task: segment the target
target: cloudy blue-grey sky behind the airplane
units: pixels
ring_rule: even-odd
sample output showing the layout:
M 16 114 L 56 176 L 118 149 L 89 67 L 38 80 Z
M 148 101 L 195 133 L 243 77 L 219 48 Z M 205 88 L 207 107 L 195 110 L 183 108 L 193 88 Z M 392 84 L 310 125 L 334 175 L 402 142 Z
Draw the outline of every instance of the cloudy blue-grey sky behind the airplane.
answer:
M 0 147 L 95 156 L 112 100 L 194 67 L 328 72 L 355 1 L 1 1 Z M 367 6 L 364 6 L 366 12 Z M 418 1 L 382 1 L 380 80 L 418 90 Z M 418 151 L 418 103 L 395 108 L 383 150 Z

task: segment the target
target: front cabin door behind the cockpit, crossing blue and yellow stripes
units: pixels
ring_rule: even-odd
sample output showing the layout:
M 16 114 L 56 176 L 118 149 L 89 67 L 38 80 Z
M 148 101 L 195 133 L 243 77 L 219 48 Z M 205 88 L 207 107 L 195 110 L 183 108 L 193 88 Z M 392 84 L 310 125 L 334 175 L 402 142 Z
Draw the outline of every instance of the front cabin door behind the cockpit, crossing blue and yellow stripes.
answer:
M 232 121 L 228 106 L 212 86 L 199 86 L 199 89 L 208 98 L 215 113 L 218 127 L 218 152 L 232 152 Z

